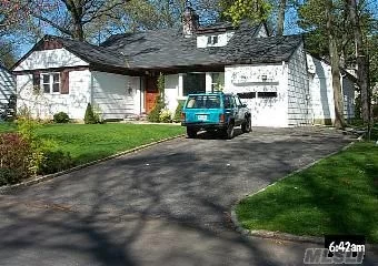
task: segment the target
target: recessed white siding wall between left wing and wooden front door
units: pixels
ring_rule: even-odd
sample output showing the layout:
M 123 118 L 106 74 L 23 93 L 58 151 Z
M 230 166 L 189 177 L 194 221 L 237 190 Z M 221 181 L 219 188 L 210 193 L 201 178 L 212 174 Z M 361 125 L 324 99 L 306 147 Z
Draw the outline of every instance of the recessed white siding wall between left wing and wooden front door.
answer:
M 103 119 L 125 119 L 139 115 L 140 78 L 92 72 L 92 103 Z

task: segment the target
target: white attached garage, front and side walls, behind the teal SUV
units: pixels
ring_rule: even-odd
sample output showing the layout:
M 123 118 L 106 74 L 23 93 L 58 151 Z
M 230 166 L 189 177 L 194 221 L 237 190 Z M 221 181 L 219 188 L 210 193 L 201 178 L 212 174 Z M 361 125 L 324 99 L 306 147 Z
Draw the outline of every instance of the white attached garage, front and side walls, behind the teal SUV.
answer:
M 225 90 L 237 93 L 252 112 L 253 126 L 311 124 L 309 84 L 302 44 L 280 62 L 225 68 Z

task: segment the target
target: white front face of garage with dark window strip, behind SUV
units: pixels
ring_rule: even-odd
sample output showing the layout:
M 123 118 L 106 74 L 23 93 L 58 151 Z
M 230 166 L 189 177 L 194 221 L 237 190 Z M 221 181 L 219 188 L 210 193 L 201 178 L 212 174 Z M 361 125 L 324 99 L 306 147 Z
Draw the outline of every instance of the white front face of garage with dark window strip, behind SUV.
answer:
M 281 64 L 232 65 L 225 69 L 225 92 L 277 92 L 277 98 L 241 100 L 251 110 L 253 126 L 287 126 L 287 78 Z M 267 78 L 263 81 L 263 76 Z

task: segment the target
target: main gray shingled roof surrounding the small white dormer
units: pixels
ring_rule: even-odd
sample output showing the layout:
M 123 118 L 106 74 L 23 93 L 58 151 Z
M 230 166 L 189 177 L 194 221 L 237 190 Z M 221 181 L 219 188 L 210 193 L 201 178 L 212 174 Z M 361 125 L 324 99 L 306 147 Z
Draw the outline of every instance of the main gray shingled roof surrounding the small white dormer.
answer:
M 126 55 L 129 68 L 158 69 L 277 63 L 288 61 L 302 42 L 300 35 L 256 38 L 258 28 L 240 25 L 222 48 L 197 48 L 196 38 L 183 38 L 172 29 L 113 35 L 102 47 Z

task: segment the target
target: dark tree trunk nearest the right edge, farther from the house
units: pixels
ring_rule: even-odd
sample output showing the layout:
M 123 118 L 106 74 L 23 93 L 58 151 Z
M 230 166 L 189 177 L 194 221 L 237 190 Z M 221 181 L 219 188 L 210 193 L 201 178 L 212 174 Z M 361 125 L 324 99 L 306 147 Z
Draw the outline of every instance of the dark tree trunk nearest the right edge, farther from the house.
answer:
M 362 32 L 357 14 L 356 0 L 347 0 L 349 19 L 354 28 L 358 86 L 361 90 L 361 114 L 365 123 L 370 122 L 369 64 L 364 50 Z

